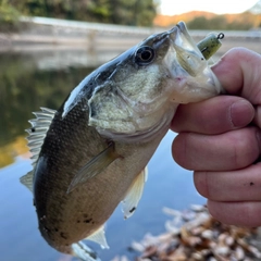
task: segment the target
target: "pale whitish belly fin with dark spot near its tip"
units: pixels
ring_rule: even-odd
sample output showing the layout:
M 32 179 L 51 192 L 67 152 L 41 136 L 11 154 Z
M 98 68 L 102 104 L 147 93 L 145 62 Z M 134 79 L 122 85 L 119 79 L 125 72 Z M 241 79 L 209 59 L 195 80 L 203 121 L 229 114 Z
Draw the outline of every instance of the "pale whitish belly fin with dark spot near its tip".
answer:
M 135 210 L 137 209 L 138 202 L 144 192 L 144 186 L 147 182 L 148 177 L 148 169 L 147 166 L 138 174 L 133 185 L 129 187 L 126 197 L 122 201 L 124 219 L 128 219 L 133 215 Z

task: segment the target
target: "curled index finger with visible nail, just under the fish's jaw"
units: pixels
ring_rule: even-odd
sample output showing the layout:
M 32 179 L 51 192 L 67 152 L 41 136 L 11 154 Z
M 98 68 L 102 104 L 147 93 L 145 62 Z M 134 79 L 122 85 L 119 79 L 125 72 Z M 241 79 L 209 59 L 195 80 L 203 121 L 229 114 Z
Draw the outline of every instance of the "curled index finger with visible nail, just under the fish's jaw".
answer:
M 251 103 L 240 97 L 219 96 L 179 105 L 172 121 L 174 132 L 221 134 L 248 125 L 254 115 Z

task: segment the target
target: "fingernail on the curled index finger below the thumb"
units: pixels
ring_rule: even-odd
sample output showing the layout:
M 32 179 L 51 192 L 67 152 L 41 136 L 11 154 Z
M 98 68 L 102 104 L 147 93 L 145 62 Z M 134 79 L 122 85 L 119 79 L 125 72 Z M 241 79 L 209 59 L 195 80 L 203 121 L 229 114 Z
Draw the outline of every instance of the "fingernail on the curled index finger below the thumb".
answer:
M 234 127 L 244 127 L 253 120 L 254 110 L 247 100 L 238 100 L 231 105 L 231 122 Z

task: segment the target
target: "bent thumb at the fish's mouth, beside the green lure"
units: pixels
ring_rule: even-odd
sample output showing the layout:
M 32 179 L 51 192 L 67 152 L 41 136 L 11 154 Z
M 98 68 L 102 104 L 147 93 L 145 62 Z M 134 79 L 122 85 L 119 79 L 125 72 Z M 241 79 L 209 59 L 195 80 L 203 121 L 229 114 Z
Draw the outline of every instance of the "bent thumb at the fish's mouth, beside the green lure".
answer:
M 222 86 L 252 104 L 261 100 L 261 55 L 245 48 L 233 48 L 212 66 Z

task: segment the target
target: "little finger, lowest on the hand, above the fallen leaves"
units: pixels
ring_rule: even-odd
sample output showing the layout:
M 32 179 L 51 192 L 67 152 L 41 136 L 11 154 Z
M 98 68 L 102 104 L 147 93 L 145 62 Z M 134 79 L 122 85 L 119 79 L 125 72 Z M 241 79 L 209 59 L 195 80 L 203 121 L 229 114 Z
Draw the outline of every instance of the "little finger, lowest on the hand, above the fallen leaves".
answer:
M 261 225 L 261 202 L 208 201 L 211 215 L 228 225 L 256 227 Z

